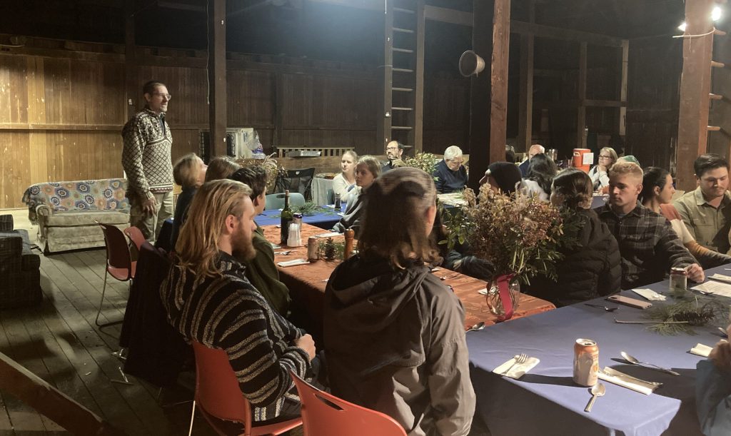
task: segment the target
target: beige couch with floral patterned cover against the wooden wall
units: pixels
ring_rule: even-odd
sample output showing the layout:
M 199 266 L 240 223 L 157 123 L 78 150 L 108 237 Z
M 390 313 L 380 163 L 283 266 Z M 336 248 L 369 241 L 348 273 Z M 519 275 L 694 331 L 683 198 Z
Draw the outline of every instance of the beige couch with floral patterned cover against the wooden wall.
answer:
M 104 247 L 96 221 L 129 227 L 126 179 L 37 183 L 26 189 L 23 202 L 38 224 L 38 243 L 45 253 Z

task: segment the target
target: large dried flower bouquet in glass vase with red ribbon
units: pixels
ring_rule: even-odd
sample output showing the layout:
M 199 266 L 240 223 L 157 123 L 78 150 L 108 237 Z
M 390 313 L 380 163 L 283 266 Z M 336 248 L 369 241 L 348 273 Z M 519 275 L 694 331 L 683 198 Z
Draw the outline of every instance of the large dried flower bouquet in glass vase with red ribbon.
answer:
M 464 191 L 466 206 L 444 214 L 447 243 L 469 244 L 471 254 L 492 264 L 493 280 L 488 305 L 500 320 L 509 319 L 518 307 L 520 283 L 534 275 L 556 278 L 556 261 L 564 238 L 564 218 L 550 203 L 516 191 L 496 193 L 488 184 L 480 193 Z M 455 210 L 456 209 L 456 210 Z

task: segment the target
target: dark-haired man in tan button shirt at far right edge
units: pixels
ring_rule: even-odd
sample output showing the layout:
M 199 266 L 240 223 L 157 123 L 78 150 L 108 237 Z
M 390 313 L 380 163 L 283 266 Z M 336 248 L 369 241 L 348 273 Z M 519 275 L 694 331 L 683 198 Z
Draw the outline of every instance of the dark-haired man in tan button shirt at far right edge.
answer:
M 698 188 L 675 200 L 675 209 L 700 245 L 728 254 L 731 229 L 729 164 L 721 156 L 708 153 L 698 156 L 693 168 Z

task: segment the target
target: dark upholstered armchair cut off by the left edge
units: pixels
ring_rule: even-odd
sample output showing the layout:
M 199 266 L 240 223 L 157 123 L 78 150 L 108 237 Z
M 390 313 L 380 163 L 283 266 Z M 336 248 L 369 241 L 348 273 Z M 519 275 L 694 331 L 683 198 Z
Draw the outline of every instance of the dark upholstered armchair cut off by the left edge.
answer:
M 28 231 L 14 230 L 12 215 L 0 215 L 0 309 L 41 302 L 40 265 Z

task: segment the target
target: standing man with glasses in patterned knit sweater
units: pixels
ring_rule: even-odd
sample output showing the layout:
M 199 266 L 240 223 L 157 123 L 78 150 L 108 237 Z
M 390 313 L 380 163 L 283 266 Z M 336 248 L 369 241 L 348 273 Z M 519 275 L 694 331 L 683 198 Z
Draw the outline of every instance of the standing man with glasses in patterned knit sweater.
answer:
M 173 216 L 173 136 L 165 122 L 170 94 L 156 80 L 143 85 L 145 108 L 124 125 L 122 167 L 127 177 L 129 223 L 154 242 Z

